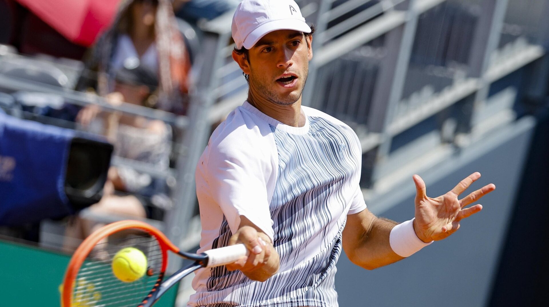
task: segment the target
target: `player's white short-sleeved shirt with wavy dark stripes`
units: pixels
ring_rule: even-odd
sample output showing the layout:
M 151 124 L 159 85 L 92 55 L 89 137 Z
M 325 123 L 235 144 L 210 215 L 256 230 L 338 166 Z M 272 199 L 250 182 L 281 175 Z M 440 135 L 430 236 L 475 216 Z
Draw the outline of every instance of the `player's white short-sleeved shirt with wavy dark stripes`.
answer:
M 226 246 L 244 215 L 281 260 L 265 282 L 224 266 L 201 269 L 189 306 L 338 306 L 335 264 L 346 216 L 366 208 L 360 142 L 343 122 L 302 106 L 287 126 L 245 102 L 212 134 L 196 173 L 199 252 Z

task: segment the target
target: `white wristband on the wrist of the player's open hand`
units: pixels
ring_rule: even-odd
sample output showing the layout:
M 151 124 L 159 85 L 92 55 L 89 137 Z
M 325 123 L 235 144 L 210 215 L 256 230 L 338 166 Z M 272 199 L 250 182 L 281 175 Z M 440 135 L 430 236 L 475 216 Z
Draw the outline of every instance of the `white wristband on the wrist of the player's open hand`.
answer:
M 425 243 L 419 240 L 416 231 L 413 230 L 413 220 L 407 220 L 404 223 L 396 225 L 389 235 L 389 244 L 400 257 L 410 257 L 413 253 L 419 251 L 419 249 L 433 243 L 433 241 Z

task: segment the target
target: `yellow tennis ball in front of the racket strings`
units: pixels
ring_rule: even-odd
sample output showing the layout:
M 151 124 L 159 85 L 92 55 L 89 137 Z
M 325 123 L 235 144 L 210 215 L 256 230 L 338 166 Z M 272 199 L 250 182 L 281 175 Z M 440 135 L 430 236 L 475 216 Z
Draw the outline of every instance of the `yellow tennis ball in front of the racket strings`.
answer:
M 119 280 L 136 281 L 147 271 L 147 257 L 137 248 L 126 247 L 114 255 L 112 267 Z

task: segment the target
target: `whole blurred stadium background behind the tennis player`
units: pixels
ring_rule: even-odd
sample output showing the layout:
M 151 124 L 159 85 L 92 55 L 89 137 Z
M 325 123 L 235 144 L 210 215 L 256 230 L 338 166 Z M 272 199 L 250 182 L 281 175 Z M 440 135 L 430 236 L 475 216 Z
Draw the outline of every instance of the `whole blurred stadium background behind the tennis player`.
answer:
M 58 305 L 71 253 L 116 220 L 198 248 L 195 163 L 247 97 L 231 59 L 238 2 L 0 0 L 7 305 Z M 541 305 L 549 1 L 296 2 L 317 28 L 303 103 L 355 129 L 372 212 L 410 219 L 416 173 L 433 197 L 475 171 L 473 189 L 497 186 L 456 235 L 409 259 L 365 271 L 342 255 L 340 306 Z M 191 279 L 159 305 L 185 306 Z

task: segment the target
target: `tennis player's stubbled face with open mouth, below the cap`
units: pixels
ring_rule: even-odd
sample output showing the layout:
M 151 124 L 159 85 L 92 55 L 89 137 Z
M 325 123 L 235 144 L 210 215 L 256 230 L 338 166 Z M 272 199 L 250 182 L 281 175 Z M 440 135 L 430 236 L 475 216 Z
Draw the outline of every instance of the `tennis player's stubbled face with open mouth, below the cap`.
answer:
M 249 50 L 249 62 L 237 57 L 249 75 L 250 90 L 278 105 L 299 100 L 312 59 L 312 37 L 295 30 L 278 30 L 262 37 Z M 234 56 L 233 56 L 234 58 Z

